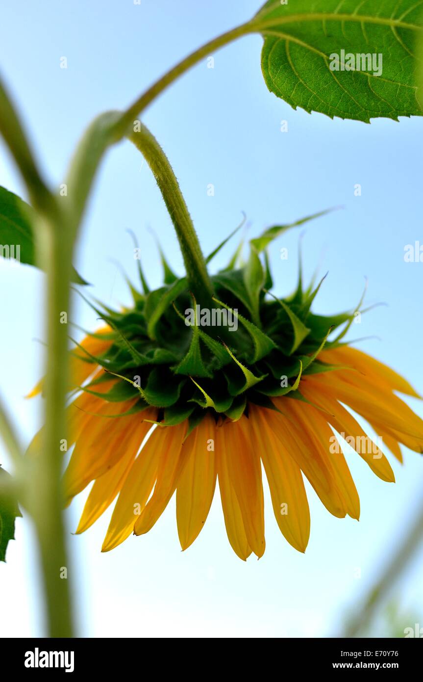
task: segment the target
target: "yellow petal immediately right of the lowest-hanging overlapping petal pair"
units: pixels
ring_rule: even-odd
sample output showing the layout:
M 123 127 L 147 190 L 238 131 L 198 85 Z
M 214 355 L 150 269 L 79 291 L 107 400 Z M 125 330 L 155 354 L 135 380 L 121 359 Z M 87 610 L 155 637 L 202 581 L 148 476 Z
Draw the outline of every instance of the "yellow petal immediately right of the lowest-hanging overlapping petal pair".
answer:
M 281 532 L 296 550 L 305 552 L 310 536 L 310 511 L 300 467 L 272 432 L 266 413 L 250 406 L 253 447 L 262 458 L 273 511 Z

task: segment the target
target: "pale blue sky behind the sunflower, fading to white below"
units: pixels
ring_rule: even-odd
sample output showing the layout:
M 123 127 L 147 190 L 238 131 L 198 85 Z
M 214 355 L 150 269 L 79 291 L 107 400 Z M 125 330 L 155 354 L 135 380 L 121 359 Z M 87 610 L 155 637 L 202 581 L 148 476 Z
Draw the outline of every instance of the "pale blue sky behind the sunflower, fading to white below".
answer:
M 256 0 L 2 0 L 0 64 L 33 147 L 52 183 L 63 181 L 84 128 L 104 110 L 124 108 L 157 77 L 201 44 L 250 18 Z M 268 92 L 260 70 L 262 38 L 242 38 L 202 61 L 168 89 L 144 116 L 181 183 L 204 252 L 240 222 L 251 237 L 271 224 L 343 206 L 310 223 L 303 239 L 304 272 L 329 272 L 315 312 L 354 309 L 364 277 L 375 308 L 350 338 L 377 336 L 358 347 L 404 374 L 423 391 L 423 263 L 405 263 L 404 247 L 422 233 L 422 119 L 371 125 L 331 121 L 294 111 Z M 67 69 L 60 68 L 61 57 Z M 281 132 L 287 121 L 288 132 Z M 215 196 L 208 196 L 213 183 Z M 362 196 L 354 196 L 360 183 Z M 3 143 L 0 184 L 25 196 Z M 132 228 L 151 286 L 161 267 L 151 231 L 183 272 L 178 243 L 155 181 L 138 151 L 123 143 L 108 153 L 95 183 L 78 244 L 78 271 L 91 293 L 129 303 L 115 261 L 136 277 Z M 298 231 L 272 245 L 275 291 L 290 293 L 298 273 Z M 236 242 L 215 259 L 223 267 Z M 281 261 L 281 247 L 289 258 Z M 42 399 L 24 400 L 42 372 L 44 277 L 0 262 L 1 395 L 28 443 L 41 424 Z M 95 314 L 76 301 L 74 321 L 95 327 Z M 416 400 L 409 404 L 420 415 Z M 7 466 L 3 449 L 1 462 Z M 174 500 L 153 530 L 101 554 L 110 510 L 82 536 L 69 535 L 70 572 L 83 636 L 326 636 L 396 548 L 423 489 L 422 460 L 405 450 L 393 463 L 396 484 L 375 477 L 356 454 L 347 460 L 360 493 L 360 522 L 332 518 L 308 486 L 311 539 L 306 554 L 285 542 L 266 490 L 266 553 L 240 561 L 228 543 L 219 494 L 206 525 L 186 552 L 176 532 Z M 74 531 L 86 493 L 68 512 Z M 357 569 L 361 578 L 357 578 Z M 393 596 L 423 626 L 423 552 Z M 28 520 L 0 565 L 0 634 L 40 636 L 37 564 Z M 406 622 L 405 625 L 413 626 Z

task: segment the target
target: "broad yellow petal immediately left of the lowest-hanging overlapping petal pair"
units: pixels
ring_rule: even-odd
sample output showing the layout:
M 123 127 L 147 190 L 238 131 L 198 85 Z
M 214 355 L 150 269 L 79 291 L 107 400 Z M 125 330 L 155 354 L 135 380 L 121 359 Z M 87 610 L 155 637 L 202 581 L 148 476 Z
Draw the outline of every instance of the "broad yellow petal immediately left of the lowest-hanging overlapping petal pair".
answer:
M 193 432 L 191 451 L 176 488 L 176 522 L 183 550 L 200 533 L 215 494 L 217 471 L 214 441 L 215 420 L 207 415 Z M 189 439 L 184 447 L 187 446 Z

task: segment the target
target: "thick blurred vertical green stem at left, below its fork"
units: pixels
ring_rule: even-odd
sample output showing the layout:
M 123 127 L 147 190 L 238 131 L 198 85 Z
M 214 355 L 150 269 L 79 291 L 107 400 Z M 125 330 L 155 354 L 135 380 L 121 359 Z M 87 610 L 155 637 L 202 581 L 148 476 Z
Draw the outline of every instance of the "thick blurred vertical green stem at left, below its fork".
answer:
M 46 357 L 45 428 L 37 466 L 31 512 L 39 543 L 42 579 L 46 595 L 48 634 L 72 637 L 72 607 L 69 595 L 69 563 L 63 516 L 61 441 L 66 439 L 65 399 L 67 386 L 67 324 L 69 318 L 69 283 L 72 270 L 72 245 L 67 243 L 66 224 L 40 221 L 37 231 L 38 252 L 47 271 L 46 282 Z

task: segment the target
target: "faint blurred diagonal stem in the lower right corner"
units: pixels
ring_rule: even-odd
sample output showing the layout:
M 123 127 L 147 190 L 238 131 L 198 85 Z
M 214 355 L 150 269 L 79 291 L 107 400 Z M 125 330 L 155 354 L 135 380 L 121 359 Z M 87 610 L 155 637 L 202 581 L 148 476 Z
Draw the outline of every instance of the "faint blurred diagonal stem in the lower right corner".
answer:
M 423 540 L 423 504 L 418 507 L 415 519 L 403 542 L 398 544 L 392 559 L 386 565 L 381 578 L 371 588 L 362 607 L 345 629 L 344 637 L 356 637 L 369 627 L 377 607 L 385 599 L 393 585 L 407 569 Z

